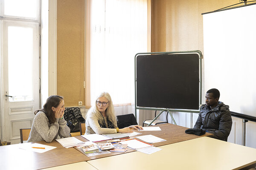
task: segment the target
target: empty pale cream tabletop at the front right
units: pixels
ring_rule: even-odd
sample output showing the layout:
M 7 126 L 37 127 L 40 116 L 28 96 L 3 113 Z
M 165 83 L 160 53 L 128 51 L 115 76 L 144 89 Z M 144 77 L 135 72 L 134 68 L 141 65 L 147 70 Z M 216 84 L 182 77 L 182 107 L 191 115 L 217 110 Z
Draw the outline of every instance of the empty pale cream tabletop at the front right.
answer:
M 256 149 L 202 137 L 160 146 L 151 155 L 131 152 L 87 161 L 98 170 L 238 170 L 256 166 Z

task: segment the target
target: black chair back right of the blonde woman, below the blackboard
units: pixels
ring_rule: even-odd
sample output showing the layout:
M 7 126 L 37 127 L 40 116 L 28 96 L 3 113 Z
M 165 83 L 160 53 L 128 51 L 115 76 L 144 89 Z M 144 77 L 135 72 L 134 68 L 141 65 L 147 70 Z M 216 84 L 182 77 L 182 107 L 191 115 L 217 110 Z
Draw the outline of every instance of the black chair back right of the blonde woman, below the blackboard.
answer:
M 137 120 L 133 113 L 125 114 L 125 115 L 118 115 L 118 116 L 116 116 L 116 119 L 117 119 L 117 127 L 119 129 L 131 126 L 131 125 L 138 125 Z

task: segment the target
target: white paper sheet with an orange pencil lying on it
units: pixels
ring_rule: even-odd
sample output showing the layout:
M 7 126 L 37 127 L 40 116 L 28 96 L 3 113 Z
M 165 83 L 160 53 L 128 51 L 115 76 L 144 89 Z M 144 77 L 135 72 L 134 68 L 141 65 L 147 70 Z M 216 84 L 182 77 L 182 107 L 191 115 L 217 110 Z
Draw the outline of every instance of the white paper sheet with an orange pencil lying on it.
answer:
M 37 148 L 33 148 L 33 147 L 44 147 L 45 149 L 37 149 Z M 24 149 L 24 150 L 31 150 L 33 152 L 37 152 L 37 153 L 44 153 L 47 152 L 48 150 L 52 150 L 55 149 L 56 147 L 53 146 L 48 146 L 45 144 L 38 144 L 38 143 L 23 143 L 20 145 L 19 147 L 20 149 Z

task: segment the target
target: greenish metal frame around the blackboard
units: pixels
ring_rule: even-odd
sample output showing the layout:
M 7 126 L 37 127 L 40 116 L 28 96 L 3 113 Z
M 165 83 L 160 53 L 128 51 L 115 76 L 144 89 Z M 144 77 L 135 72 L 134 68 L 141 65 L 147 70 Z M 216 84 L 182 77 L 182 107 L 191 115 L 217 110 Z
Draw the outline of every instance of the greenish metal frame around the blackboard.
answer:
M 155 54 L 197 54 L 198 55 L 198 62 L 199 62 L 199 103 L 198 103 L 198 109 L 177 109 L 177 108 L 156 108 L 156 107 L 141 107 L 137 105 L 137 57 L 142 55 L 155 55 Z M 137 109 L 141 110 L 157 110 L 162 111 L 164 109 L 167 109 L 169 111 L 177 111 L 177 112 L 188 112 L 188 113 L 199 113 L 199 105 L 201 105 L 202 101 L 202 62 L 201 59 L 203 58 L 203 55 L 201 51 L 195 50 L 195 51 L 173 51 L 173 52 L 149 52 L 149 53 L 137 53 L 134 57 L 134 85 L 135 85 L 135 116 L 137 117 Z

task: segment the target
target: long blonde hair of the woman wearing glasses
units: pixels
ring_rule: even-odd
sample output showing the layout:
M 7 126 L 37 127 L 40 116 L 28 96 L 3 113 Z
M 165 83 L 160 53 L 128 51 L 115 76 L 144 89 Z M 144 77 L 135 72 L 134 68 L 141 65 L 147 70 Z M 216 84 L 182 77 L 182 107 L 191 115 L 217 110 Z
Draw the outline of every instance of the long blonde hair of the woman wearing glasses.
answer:
M 112 99 L 111 99 L 111 96 L 108 94 L 108 92 L 102 92 L 101 94 L 99 94 L 99 96 L 97 96 L 96 100 L 95 100 L 95 104 L 94 106 L 92 106 L 89 111 L 88 111 L 88 114 L 86 115 L 86 117 L 89 115 L 89 114 L 94 114 L 94 116 L 96 116 L 96 119 L 103 124 L 103 122 L 105 121 L 103 119 L 103 116 L 102 116 L 102 113 L 100 113 L 100 111 L 98 110 L 97 108 L 97 100 L 100 98 L 100 97 L 105 97 L 106 99 L 108 99 L 108 108 L 106 109 L 106 115 L 107 115 L 107 118 L 109 121 L 111 121 L 114 125 L 114 127 L 117 127 L 117 124 L 116 124 L 116 114 L 115 114 L 115 111 L 114 111 L 114 106 L 113 106 L 113 102 L 112 102 Z

